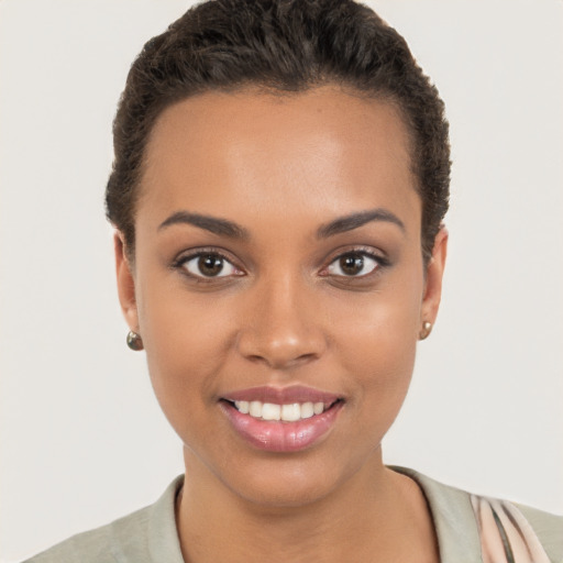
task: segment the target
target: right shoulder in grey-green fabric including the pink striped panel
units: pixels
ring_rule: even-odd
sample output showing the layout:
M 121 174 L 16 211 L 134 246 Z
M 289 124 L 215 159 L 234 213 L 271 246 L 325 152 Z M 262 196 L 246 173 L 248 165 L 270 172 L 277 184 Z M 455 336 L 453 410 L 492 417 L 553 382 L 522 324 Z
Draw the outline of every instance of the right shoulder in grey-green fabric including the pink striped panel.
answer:
M 498 561 L 510 561 L 509 552 L 512 549 L 515 553 L 525 550 L 531 558 L 517 558 L 516 561 L 563 562 L 563 516 L 474 495 L 412 470 L 391 468 L 419 484 L 434 520 L 440 548 L 444 552 L 461 555 L 460 547 L 463 547 L 466 555 L 470 552 L 476 553 L 474 561 L 489 561 L 486 552 L 490 553 L 493 545 L 501 551 L 496 559 Z M 444 559 L 450 560 L 454 561 L 455 558 Z

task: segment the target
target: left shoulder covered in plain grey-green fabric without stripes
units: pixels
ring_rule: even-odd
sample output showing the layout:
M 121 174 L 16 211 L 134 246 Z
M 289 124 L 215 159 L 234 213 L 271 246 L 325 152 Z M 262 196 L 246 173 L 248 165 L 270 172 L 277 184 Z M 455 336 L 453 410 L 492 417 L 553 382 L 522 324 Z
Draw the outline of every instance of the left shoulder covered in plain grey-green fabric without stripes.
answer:
M 181 563 L 174 516 L 181 483 L 183 477 L 174 479 L 154 505 L 73 536 L 23 563 Z

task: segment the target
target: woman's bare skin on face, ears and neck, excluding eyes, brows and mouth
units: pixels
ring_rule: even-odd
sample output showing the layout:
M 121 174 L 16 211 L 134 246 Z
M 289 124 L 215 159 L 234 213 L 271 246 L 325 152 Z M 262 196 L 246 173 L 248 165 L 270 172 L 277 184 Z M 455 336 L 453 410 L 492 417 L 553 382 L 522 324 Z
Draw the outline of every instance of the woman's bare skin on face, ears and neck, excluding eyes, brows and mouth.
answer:
M 385 468 L 380 452 L 422 323 L 438 312 L 448 240 L 442 229 L 424 265 L 408 147 L 390 103 L 336 87 L 205 93 L 159 117 L 134 263 L 119 233 L 115 251 L 125 319 L 184 442 L 177 522 L 186 561 L 438 561 L 420 489 Z M 404 229 L 372 221 L 317 236 L 338 217 L 375 208 Z M 177 211 L 236 222 L 249 236 L 158 229 Z M 234 268 L 190 277 L 177 258 L 201 249 L 219 250 Z M 366 258 L 361 275 L 344 276 L 339 256 L 351 251 L 389 264 Z M 197 260 L 189 264 L 194 272 Z M 233 431 L 219 399 L 261 385 L 306 385 L 345 404 L 313 446 L 260 451 Z

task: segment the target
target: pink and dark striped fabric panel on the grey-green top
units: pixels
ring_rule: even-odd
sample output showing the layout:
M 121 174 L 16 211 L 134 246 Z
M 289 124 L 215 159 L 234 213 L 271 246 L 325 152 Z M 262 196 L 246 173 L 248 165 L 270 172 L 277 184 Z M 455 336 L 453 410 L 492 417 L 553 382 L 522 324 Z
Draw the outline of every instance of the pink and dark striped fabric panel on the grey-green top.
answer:
M 471 495 L 483 563 L 550 563 L 520 510 L 506 500 Z

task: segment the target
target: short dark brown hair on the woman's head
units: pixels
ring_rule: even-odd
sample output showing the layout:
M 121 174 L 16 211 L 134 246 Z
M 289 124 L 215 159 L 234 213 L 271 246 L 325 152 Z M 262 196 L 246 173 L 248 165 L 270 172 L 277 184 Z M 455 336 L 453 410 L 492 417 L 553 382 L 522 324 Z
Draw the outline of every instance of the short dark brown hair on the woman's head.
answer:
M 108 219 L 134 249 L 134 211 L 147 139 L 161 112 L 196 93 L 258 86 L 301 92 L 325 84 L 391 100 L 411 134 L 428 260 L 448 210 L 444 104 L 405 40 L 353 0 L 209 0 L 148 41 L 133 63 L 113 123 Z

